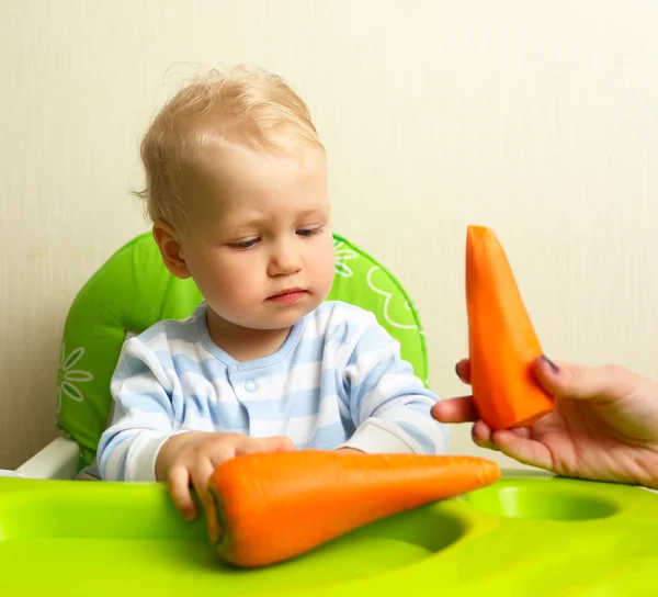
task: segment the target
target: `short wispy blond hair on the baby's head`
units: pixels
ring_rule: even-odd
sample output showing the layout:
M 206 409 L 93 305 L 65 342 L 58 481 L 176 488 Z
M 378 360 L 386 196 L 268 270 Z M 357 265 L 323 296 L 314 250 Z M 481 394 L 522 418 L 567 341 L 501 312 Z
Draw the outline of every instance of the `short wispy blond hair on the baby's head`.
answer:
M 281 77 L 242 65 L 213 70 L 170 99 L 141 140 L 146 185 L 135 194 L 152 221 L 174 224 L 185 216 L 183 167 L 218 140 L 264 151 L 302 143 L 324 151 L 306 103 Z

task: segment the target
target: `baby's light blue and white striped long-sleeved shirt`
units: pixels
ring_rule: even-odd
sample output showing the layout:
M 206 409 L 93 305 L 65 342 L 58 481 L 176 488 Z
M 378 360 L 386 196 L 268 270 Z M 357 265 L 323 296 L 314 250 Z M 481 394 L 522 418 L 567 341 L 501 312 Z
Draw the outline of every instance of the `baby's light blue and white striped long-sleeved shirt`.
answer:
M 297 449 L 444 453 L 438 397 L 375 316 L 325 302 L 273 354 L 238 362 L 211 339 L 206 305 L 163 320 L 122 349 L 114 415 L 98 450 L 103 478 L 155 481 L 161 446 L 184 431 L 287 436 Z

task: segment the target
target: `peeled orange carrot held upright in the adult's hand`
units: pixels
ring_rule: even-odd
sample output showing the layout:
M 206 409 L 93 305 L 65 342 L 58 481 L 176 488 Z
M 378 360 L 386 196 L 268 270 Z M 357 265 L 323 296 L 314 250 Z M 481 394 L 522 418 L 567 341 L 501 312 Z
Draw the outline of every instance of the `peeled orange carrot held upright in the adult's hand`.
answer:
M 554 408 L 536 381 L 542 347 L 494 230 L 468 226 L 466 304 L 475 407 L 495 430 L 530 426 Z

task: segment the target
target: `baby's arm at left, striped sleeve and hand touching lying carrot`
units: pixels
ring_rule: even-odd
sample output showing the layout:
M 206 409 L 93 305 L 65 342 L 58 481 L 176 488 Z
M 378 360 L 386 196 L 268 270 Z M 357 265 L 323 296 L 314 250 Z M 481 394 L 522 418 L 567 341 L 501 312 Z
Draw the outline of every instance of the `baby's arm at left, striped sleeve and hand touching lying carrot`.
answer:
M 175 374 L 168 375 L 138 338 L 124 345 L 111 388 L 114 417 L 98 450 L 102 478 L 167 481 L 173 503 L 188 520 L 197 514 L 190 484 L 203 502 L 208 478 L 222 462 L 238 454 L 295 448 L 283 437 L 182 429 L 183 396 Z

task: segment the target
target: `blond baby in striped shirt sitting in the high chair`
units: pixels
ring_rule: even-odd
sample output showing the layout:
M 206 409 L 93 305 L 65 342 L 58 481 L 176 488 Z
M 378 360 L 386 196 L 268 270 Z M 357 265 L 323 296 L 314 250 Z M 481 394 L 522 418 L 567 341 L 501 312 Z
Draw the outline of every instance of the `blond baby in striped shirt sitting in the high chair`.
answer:
M 334 273 L 325 149 L 279 77 L 193 82 L 141 144 L 154 237 L 204 302 L 123 347 L 101 475 L 167 481 L 189 520 L 214 469 L 304 448 L 441 453 L 438 401 L 373 314 L 326 302 Z

